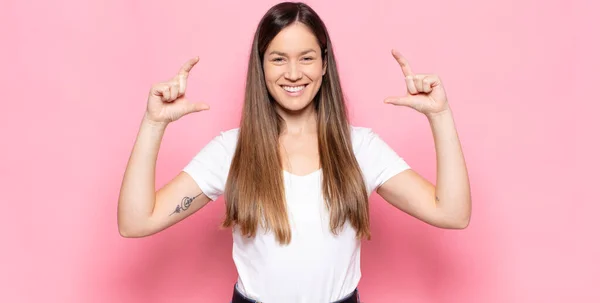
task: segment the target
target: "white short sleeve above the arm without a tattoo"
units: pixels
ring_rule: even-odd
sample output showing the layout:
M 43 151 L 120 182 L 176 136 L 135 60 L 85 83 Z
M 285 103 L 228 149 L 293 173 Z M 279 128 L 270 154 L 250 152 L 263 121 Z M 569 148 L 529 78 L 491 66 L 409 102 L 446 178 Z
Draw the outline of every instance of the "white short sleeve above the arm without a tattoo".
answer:
M 373 130 L 356 128 L 355 136 L 355 154 L 369 194 L 391 177 L 410 169 L 408 163 Z

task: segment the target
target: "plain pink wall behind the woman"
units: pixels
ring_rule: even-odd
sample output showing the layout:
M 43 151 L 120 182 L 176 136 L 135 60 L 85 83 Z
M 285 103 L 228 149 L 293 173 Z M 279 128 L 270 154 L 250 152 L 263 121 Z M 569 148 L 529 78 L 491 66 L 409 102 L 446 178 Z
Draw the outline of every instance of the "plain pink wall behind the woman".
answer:
M 274 3 L 2 1 L 1 302 L 229 302 L 222 199 L 153 237 L 124 239 L 117 197 L 150 85 L 188 58 L 201 58 L 188 95 L 212 109 L 169 127 L 157 185 L 237 126 L 251 36 Z M 441 76 L 472 182 L 462 231 L 372 196 L 362 299 L 600 302 L 598 5 L 308 3 L 332 35 L 353 124 L 430 180 L 426 119 L 382 102 L 405 90 L 390 49 Z

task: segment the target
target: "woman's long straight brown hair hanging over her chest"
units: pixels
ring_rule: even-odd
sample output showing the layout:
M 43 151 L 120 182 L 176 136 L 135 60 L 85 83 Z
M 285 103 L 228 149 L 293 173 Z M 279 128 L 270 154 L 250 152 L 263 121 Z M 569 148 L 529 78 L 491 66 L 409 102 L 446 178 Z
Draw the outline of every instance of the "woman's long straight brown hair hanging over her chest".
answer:
M 278 148 L 284 121 L 267 91 L 262 59 L 271 40 L 294 22 L 302 22 L 313 31 L 323 61 L 327 62 L 313 104 L 330 229 L 337 234 L 349 221 L 357 237 L 370 238 L 368 195 L 352 150 L 350 124 L 329 34 L 309 6 L 292 2 L 272 7 L 254 35 L 238 142 L 225 186 L 226 217 L 222 226 L 237 225 L 243 235 L 255 236 L 258 224 L 262 224 L 273 231 L 279 243 L 291 241 Z

